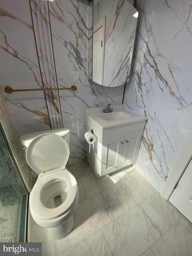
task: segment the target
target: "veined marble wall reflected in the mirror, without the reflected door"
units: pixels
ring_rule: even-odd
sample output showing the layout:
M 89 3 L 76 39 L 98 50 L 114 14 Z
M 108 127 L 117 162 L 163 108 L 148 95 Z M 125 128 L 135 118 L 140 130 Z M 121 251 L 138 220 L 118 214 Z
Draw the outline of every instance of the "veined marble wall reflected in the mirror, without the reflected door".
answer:
M 136 13 L 137 10 L 127 0 L 98 1 L 94 6 L 94 26 L 106 19 L 103 86 L 120 86 L 129 80 L 137 26 Z

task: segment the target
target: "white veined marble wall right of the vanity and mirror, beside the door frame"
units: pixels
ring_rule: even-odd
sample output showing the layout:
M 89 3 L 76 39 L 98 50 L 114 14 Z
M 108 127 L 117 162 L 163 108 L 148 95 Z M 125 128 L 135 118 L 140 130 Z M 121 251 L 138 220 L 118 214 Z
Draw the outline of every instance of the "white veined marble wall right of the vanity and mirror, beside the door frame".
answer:
M 132 78 L 124 106 L 148 117 L 136 168 L 159 191 L 192 127 L 192 3 L 137 0 Z

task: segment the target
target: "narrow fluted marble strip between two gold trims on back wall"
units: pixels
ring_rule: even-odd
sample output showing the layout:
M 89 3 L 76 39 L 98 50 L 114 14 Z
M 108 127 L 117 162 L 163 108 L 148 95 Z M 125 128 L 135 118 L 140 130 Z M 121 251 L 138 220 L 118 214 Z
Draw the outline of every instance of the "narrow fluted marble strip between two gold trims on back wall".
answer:
M 30 0 L 42 83 L 44 88 L 58 88 L 47 0 Z M 45 91 L 52 129 L 62 128 L 58 91 Z

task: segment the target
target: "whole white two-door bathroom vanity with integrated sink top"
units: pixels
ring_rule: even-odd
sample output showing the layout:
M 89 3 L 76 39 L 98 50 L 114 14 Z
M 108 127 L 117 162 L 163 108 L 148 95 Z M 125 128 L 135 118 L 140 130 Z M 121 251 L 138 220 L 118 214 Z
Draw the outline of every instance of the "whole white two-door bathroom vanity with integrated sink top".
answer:
M 113 106 L 110 113 L 103 110 L 86 109 L 87 131 L 93 130 L 96 136 L 90 153 L 87 150 L 87 160 L 97 178 L 135 164 L 147 120 L 123 105 Z

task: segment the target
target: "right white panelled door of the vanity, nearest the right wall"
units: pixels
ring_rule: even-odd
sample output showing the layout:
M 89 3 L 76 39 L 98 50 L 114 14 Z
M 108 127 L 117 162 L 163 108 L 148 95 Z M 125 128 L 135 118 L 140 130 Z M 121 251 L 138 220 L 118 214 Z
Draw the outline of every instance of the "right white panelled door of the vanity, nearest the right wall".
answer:
M 128 166 L 137 160 L 143 130 L 125 134 L 121 167 Z

